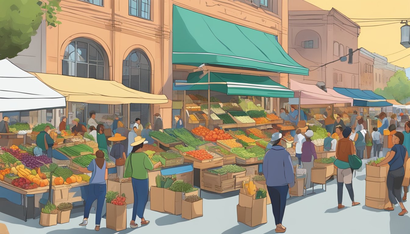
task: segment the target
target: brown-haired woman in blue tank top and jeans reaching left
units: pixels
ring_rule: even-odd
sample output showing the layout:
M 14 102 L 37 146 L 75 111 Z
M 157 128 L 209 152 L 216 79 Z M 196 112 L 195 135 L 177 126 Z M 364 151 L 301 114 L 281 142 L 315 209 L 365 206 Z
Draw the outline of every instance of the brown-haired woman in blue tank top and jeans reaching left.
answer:
M 84 219 L 80 226 L 86 226 L 88 223 L 88 217 L 91 210 L 91 205 L 95 200 L 97 200 L 97 211 L 96 211 L 96 228 L 95 230 L 100 230 L 101 214 L 103 212 L 103 206 L 105 202 L 105 195 L 107 194 L 107 184 L 105 181 L 108 179 L 108 169 L 107 164 L 104 159 L 104 152 L 98 150 L 96 152 L 96 159 L 91 161 L 87 168 L 78 168 L 78 171 L 82 173 L 92 173 L 89 183 L 89 191 L 87 200 L 85 201 L 84 207 Z

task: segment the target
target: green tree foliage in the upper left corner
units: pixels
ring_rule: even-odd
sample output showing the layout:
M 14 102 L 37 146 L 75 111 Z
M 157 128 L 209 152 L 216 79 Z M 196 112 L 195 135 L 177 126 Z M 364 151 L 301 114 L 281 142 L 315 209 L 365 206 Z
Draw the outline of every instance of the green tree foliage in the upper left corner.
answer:
M 56 14 L 61 0 L 0 0 L 0 59 L 16 57 L 27 49 L 41 21 L 61 24 Z

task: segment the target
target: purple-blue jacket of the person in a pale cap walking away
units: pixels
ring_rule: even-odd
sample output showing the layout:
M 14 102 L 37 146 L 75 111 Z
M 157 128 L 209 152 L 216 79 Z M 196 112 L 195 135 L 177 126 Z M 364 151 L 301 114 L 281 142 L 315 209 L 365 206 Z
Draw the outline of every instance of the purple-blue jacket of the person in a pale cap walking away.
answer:
M 295 185 L 295 175 L 293 172 L 292 159 L 290 154 L 279 145 L 274 145 L 266 152 L 262 165 L 263 175 L 266 178 L 267 186 L 290 187 Z

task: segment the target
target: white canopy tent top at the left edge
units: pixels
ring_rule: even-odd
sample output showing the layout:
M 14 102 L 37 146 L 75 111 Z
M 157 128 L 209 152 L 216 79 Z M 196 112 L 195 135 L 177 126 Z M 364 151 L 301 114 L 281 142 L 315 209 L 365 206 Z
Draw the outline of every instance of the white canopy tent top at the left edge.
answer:
M 66 107 L 66 98 L 7 59 L 0 60 L 0 112 Z

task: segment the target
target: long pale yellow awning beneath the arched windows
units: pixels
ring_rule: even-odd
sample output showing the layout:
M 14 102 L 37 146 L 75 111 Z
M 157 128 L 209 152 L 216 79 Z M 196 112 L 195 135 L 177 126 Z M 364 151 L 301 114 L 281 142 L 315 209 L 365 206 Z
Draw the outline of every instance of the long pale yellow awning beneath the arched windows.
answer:
M 66 97 L 67 102 L 93 104 L 167 103 L 166 95 L 144 93 L 111 80 L 96 80 L 67 75 L 31 73 Z

